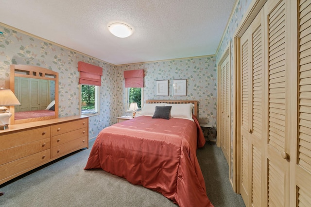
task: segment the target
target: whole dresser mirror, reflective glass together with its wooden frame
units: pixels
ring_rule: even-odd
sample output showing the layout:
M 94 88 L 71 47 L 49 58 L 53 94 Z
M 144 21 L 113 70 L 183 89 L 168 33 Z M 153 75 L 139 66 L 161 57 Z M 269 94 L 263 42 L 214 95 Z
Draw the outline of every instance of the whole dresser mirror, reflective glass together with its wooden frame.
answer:
M 10 89 L 21 104 L 10 106 L 10 124 L 58 118 L 58 72 L 11 65 Z

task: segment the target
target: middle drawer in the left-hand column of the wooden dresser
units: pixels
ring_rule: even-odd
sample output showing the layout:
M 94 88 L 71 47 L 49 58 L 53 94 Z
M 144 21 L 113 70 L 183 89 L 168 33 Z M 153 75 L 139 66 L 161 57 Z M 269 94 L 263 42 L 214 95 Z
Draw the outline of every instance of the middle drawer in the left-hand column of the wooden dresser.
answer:
M 0 150 L 0 165 L 50 149 L 50 138 L 44 138 L 15 147 Z

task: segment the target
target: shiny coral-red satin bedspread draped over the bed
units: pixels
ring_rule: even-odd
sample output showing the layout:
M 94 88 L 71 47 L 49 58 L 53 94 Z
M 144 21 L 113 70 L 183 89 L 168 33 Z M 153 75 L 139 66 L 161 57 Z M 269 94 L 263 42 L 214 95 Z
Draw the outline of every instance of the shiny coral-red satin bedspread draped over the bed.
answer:
M 212 207 L 196 149 L 205 144 L 199 124 L 140 116 L 98 135 L 85 170 L 103 169 L 156 190 L 180 207 Z

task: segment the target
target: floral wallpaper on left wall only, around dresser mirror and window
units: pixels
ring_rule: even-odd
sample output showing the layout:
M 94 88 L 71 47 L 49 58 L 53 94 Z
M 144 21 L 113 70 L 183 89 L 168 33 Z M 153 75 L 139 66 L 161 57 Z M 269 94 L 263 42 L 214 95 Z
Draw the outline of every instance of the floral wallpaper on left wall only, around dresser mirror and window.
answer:
M 9 88 L 10 65 L 35 65 L 59 73 L 59 117 L 79 115 L 78 61 L 103 68 L 101 115 L 89 118 L 89 138 L 115 122 L 115 66 L 0 25 L 0 87 Z

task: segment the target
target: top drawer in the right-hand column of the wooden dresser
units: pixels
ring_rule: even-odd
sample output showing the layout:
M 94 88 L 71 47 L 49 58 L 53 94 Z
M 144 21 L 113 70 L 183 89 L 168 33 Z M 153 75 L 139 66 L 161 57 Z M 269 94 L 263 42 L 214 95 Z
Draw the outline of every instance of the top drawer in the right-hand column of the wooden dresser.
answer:
M 52 136 L 87 127 L 87 119 L 60 123 L 52 126 Z

